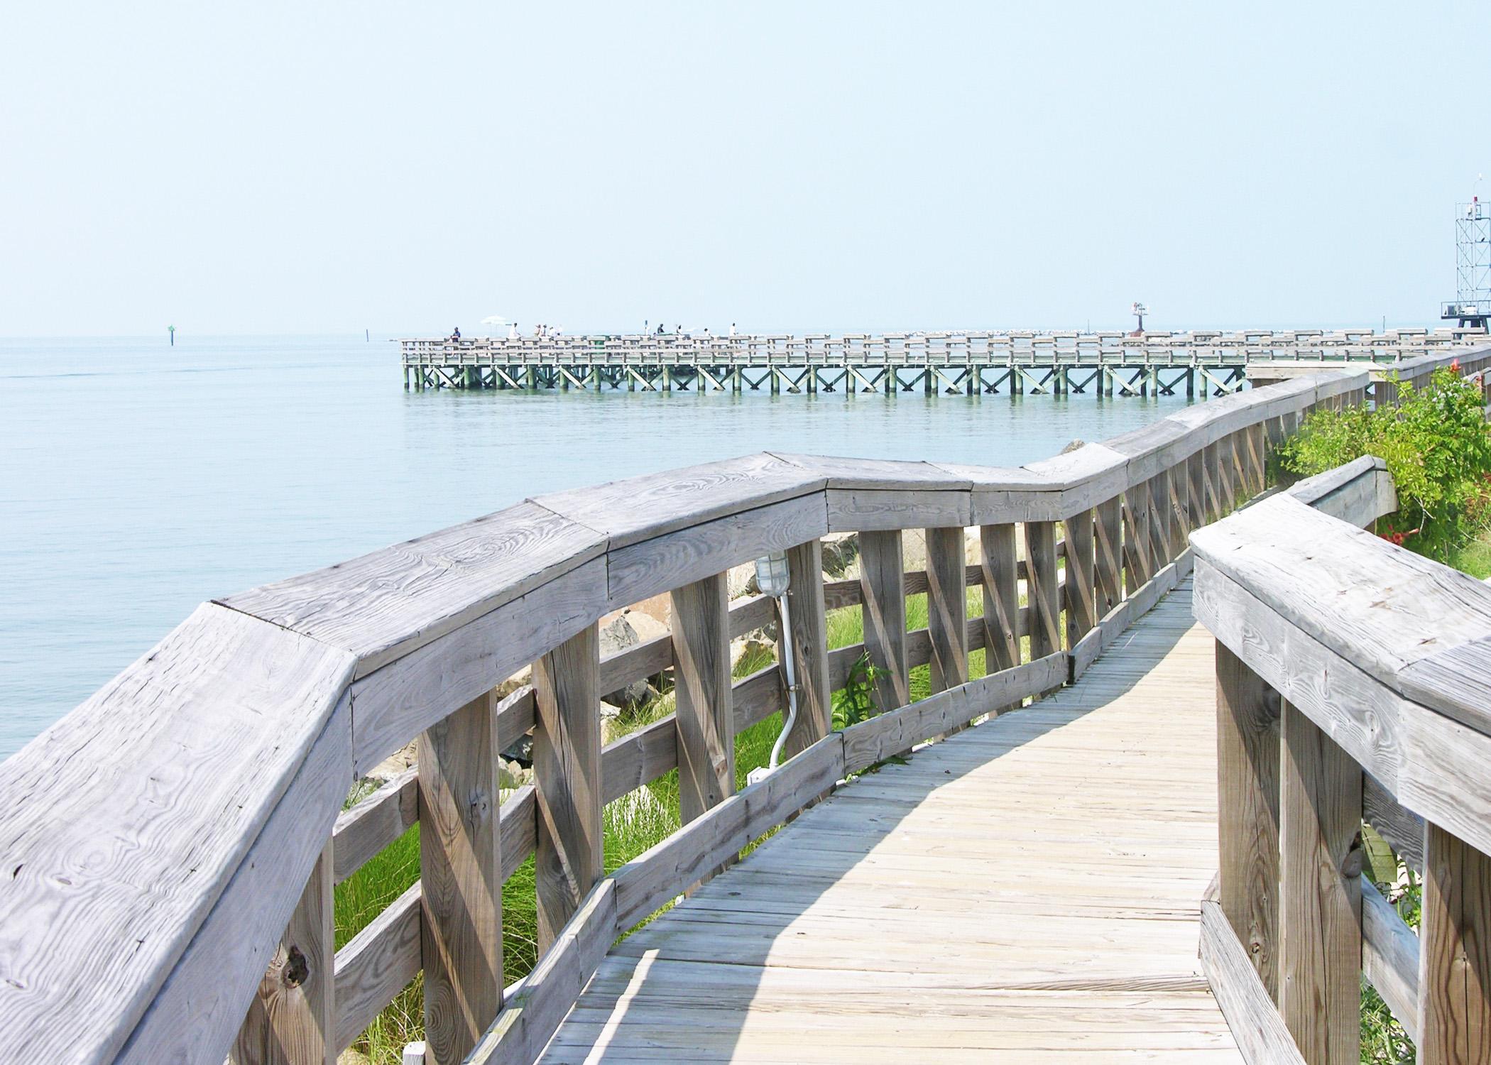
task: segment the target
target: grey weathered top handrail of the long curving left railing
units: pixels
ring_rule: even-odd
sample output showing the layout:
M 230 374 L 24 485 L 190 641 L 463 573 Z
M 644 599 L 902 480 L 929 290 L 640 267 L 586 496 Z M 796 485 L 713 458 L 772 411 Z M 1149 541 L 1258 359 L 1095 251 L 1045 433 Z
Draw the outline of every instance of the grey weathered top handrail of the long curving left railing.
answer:
M 1202 483 L 1246 494 L 1261 486 L 1255 442 L 1270 424 L 1357 401 L 1367 385 L 1366 373 L 1327 371 L 1020 468 L 772 453 L 714 462 L 528 500 L 206 604 L 0 765 L 0 838 L 13 862 L 0 919 L 34 929 L 15 940 L 0 989 L 15 1053 L 221 1061 L 353 776 L 610 610 L 829 532 L 1062 522 L 1139 498 L 1141 485 L 1153 492 L 1160 477 L 1160 506 L 1190 521 L 1221 504 L 1199 504 L 1172 470 L 1226 449 L 1218 470 L 1235 465 L 1238 483 Z M 1159 541 L 1153 550 L 1173 556 Z M 1129 594 L 1154 579 L 1138 574 Z M 497 735 L 504 719 L 534 719 L 522 706 L 498 714 Z M 330 890 L 335 861 L 322 865 Z M 330 971 L 327 950 L 312 973 Z

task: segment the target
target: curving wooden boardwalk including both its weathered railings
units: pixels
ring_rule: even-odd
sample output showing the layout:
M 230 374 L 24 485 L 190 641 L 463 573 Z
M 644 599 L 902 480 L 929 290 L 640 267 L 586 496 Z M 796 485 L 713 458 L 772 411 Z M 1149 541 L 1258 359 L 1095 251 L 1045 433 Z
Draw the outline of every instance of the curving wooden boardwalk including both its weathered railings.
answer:
M 1396 368 L 1452 362 L 1491 346 Z M 1367 531 L 1381 459 L 1267 485 L 1308 413 L 1396 395 L 1325 368 L 1024 467 L 751 455 L 203 603 L 0 764 L 4 1061 L 331 1065 L 417 980 L 429 1065 L 1357 1065 L 1366 980 L 1419 1062 L 1484 1065 L 1491 588 Z M 783 598 L 731 600 L 775 552 Z M 659 595 L 668 631 L 602 655 Z M 598 698 L 658 674 L 675 711 L 602 744 Z M 608 804 L 669 774 L 680 828 L 608 861 Z M 335 885 L 414 825 L 417 880 L 338 949 Z

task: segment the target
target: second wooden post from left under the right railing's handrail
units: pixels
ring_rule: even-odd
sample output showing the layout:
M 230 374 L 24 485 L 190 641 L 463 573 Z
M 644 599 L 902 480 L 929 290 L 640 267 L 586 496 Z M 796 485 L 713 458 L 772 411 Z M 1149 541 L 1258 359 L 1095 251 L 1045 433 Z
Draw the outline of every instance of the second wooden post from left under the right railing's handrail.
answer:
M 1282 707 L 1279 1011 L 1306 1065 L 1357 1065 L 1361 1026 L 1361 767 Z

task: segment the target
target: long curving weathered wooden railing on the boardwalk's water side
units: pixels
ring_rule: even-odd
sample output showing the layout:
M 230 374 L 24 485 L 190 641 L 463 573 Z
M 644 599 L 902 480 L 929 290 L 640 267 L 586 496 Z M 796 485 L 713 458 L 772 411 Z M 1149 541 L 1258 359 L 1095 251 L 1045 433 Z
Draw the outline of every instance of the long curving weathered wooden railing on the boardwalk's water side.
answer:
M 0 765 L 10 1052 L 331 1061 L 422 973 L 429 1061 L 531 1061 L 614 937 L 750 840 L 1079 676 L 1188 570 L 1187 534 L 1263 488 L 1270 443 L 1366 386 L 1285 382 L 1021 468 L 754 455 L 540 497 L 207 603 Z M 927 568 L 908 574 L 915 528 Z M 860 534 L 862 576 L 826 583 L 820 540 L 841 531 Z M 732 634 L 772 606 L 731 607 L 725 573 L 772 550 L 792 568 L 780 638 L 799 714 L 789 761 L 735 794 L 734 735 L 786 691 L 775 667 L 731 676 Z M 929 625 L 907 632 L 920 592 Z M 598 619 L 661 594 L 669 635 L 599 658 Z M 829 650 L 826 610 L 854 603 L 863 646 Z M 832 731 L 862 653 L 881 713 Z M 912 703 L 921 664 L 933 694 Z M 532 685 L 497 698 L 528 665 Z M 663 670 L 677 713 L 602 747 L 596 698 Z M 529 731 L 535 783 L 502 802 L 498 755 Z M 417 767 L 343 811 L 353 779 L 416 738 Z M 683 828 L 602 876 L 604 804 L 672 768 Z M 419 883 L 334 950 L 332 886 L 416 820 Z M 504 989 L 501 885 L 529 853 L 541 955 Z

